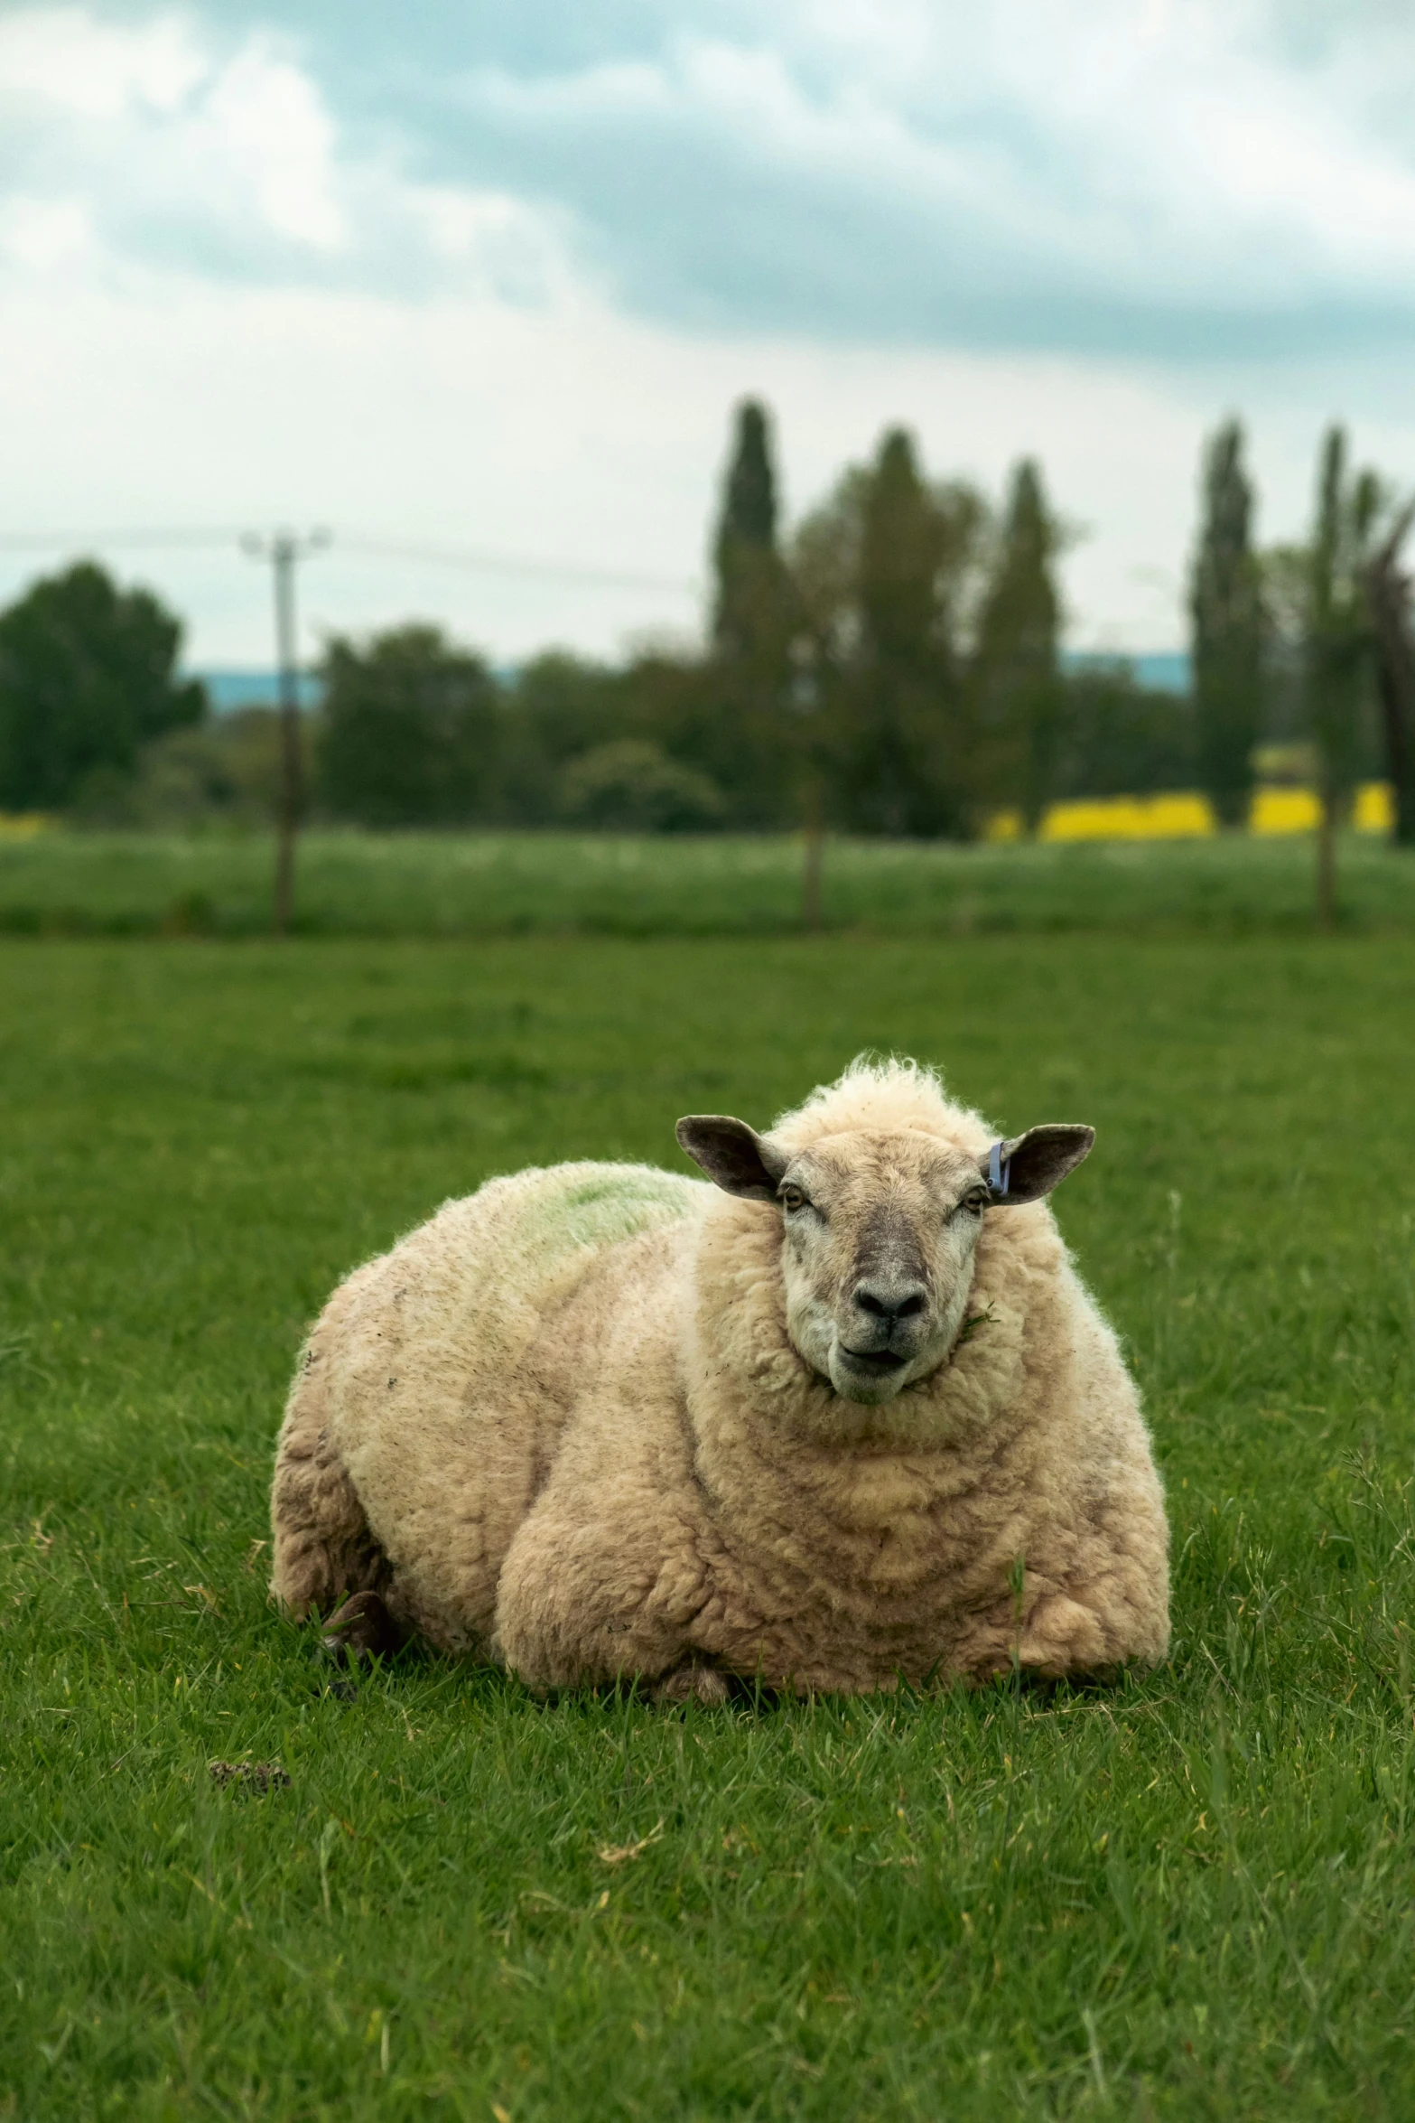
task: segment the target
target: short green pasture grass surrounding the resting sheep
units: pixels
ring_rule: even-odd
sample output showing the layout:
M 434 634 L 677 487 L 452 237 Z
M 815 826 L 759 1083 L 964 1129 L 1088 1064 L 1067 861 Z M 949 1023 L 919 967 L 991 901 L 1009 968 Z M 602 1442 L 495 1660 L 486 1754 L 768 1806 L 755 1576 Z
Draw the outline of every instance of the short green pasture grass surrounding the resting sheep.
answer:
M 0 2115 L 1415 2112 L 1415 943 L 11 943 L 0 994 Z M 1169 1667 L 331 1692 L 252 1546 L 331 1282 L 868 1042 L 1101 1132 L 1059 1210 L 1156 1429 Z

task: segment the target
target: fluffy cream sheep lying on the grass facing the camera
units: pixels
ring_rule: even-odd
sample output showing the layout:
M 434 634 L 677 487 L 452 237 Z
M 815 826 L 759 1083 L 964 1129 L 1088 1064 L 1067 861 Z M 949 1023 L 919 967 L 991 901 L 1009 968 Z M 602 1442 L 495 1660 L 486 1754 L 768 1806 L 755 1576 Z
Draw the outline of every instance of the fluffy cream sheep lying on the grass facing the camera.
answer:
M 1156 1664 L 1160 1482 L 1046 1202 L 1093 1129 L 995 1142 L 861 1059 L 766 1136 L 677 1134 L 706 1180 L 518 1172 L 335 1291 L 278 1444 L 284 1609 L 668 1703 Z

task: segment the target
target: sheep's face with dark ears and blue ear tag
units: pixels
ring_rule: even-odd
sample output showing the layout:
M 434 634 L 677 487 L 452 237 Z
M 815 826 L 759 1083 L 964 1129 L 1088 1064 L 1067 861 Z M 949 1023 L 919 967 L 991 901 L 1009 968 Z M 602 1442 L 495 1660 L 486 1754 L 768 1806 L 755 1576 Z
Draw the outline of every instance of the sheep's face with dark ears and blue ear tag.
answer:
M 1050 1193 L 1095 1142 L 1090 1127 L 1046 1125 L 974 1159 L 923 1129 L 849 1129 L 785 1151 L 723 1115 L 677 1134 L 717 1187 L 772 1204 L 791 1342 L 872 1405 L 953 1350 L 984 1214 Z

